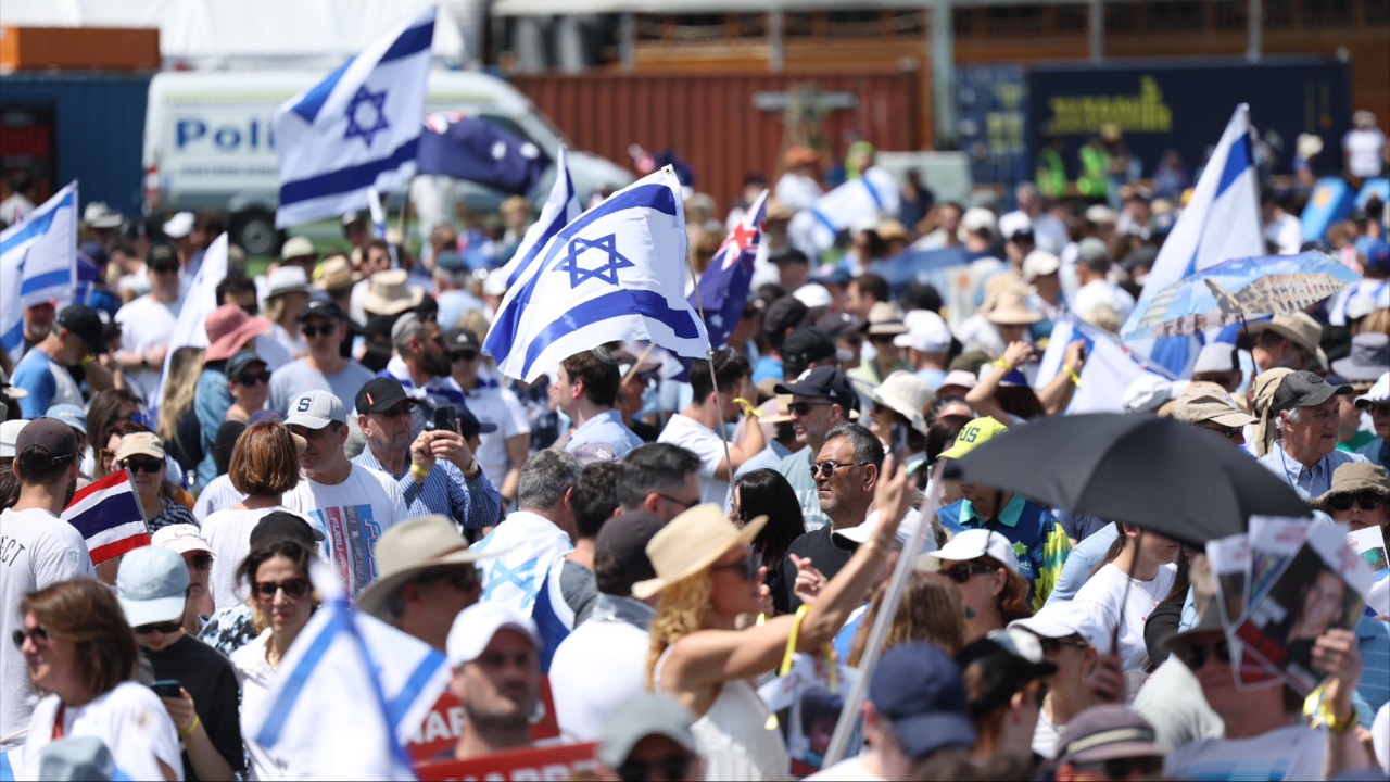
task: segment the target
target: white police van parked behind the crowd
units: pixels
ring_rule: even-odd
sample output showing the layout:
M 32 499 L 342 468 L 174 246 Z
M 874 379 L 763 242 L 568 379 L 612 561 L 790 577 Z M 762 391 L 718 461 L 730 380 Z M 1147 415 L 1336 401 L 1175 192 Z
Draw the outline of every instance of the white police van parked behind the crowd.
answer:
M 150 82 L 145 115 L 146 213 L 215 210 L 228 214 L 231 239 L 249 255 L 279 248 L 275 206 L 279 161 L 271 117 L 281 103 L 324 78 L 317 71 L 161 72 Z M 563 134 L 516 88 L 477 71 L 431 71 L 425 113 L 463 111 L 531 141 L 553 160 Z M 569 143 L 569 142 L 566 142 Z M 632 174 L 570 145 L 570 175 L 580 202 L 594 191 L 632 182 Z M 531 193 L 545 199 L 555 167 Z M 470 209 L 495 209 L 502 193 L 460 182 Z M 404 193 L 392 193 L 399 203 Z

